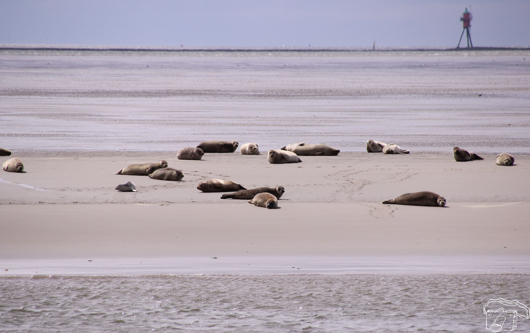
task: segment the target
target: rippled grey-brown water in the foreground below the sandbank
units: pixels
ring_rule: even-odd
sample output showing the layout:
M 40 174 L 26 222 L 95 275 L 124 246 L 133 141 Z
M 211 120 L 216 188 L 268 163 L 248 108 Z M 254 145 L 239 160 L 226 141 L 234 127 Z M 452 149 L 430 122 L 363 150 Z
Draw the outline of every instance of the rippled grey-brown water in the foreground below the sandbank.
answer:
M 530 303 L 526 274 L 0 278 L 16 332 L 487 332 L 484 304 Z M 517 330 L 530 329 L 519 319 Z

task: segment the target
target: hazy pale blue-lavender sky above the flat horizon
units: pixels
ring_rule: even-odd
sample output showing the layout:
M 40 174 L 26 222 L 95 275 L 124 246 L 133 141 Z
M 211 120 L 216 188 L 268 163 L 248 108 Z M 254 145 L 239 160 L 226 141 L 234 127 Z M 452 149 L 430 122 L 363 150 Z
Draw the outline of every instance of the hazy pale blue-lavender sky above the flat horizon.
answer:
M 530 0 L 0 0 L 0 43 L 455 47 L 470 5 L 474 46 L 530 46 Z

